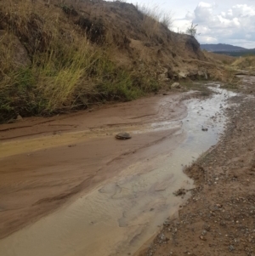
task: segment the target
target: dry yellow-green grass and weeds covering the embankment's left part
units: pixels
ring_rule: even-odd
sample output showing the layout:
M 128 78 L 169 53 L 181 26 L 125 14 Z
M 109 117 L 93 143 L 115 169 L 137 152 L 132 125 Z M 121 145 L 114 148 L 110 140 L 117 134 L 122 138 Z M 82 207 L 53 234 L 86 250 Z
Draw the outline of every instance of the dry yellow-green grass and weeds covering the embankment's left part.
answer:
M 61 13 L 50 17 L 47 3 L 43 12 L 42 4 L 31 0 L 8 2 L 0 6 L 0 122 L 106 100 L 133 100 L 158 89 L 153 77 L 116 65 L 109 48 L 98 47 L 106 37 L 103 29 L 86 29 L 82 35 L 81 27 L 88 27 L 89 20 L 81 18 L 73 31 L 68 25 L 63 28 Z M 68 16 L 77 15 L 73 5 L 58 7 Z M 27 56 L 15 60 L 24 51 Z

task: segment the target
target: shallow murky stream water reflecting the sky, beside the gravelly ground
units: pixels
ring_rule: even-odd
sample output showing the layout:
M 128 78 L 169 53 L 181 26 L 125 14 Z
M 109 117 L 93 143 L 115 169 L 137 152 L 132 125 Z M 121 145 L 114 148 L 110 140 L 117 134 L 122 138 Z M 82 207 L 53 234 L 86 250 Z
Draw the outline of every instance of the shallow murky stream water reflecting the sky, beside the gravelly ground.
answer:
M 211 89 L 216 94 L 210 99 L 185 101 L 184 118 L 126 127 L 138 135 L 166 134 L 121 159 L 115 166 L 119 173 L 93 191 L 1 240 L 0 255 L 133 255 L 189 197 L 173 196 L 180 188 L 193 187 L 184 166 L 215 145 L 224 132 L 226 100 L 235 94 Z M 96 133 L 114 132 L 110 128 Z M 75 136 L 82 138 L 81 133 Z

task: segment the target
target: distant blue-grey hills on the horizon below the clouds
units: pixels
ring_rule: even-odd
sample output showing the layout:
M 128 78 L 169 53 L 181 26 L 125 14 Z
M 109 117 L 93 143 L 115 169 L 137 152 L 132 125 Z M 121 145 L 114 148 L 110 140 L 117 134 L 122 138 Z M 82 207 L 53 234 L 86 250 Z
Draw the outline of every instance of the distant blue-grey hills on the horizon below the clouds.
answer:
M 231 44 L 218 43 L 218 44 L 201 44 L 201 49 L 207 50 L 217 54 L 228 54 L 233 56 L 241 56 L 245 54 L 255 54 L 255 48 L 243 48 Z

